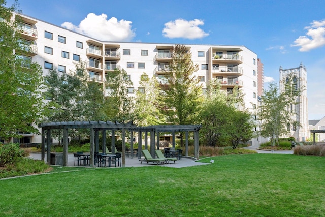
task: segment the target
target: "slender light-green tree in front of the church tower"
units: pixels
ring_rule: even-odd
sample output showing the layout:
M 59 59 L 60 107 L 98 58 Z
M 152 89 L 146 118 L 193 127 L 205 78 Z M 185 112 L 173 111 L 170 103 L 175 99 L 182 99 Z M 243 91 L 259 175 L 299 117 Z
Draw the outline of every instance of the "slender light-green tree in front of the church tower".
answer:
M 261 96 L 261 105 L 257 108 L 257 116 L 261 122 L 261 135 L 270 137 L 272 145 L 277 144 L 281 136 L 288 134 L 287 123 L 299 126 L 299 122 L 292 118 L 291 105 L 297 104 L 296 98 L 300 95 L 299 89 L 293 88 L 292 82 L 284 82 L 284 90 L 280 91 L 276 83 L 270 83 L 268 90 Z

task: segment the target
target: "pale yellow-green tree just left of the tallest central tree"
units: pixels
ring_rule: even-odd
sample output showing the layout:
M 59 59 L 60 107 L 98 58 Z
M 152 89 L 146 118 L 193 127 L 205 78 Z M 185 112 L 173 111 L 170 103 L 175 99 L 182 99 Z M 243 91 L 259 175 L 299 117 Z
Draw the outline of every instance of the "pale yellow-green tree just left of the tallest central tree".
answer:
M 139 81 L 140 87 L 136 92 L 135 121 L 137 125 L 159 125 L 162 122 L 161 113 L 157 107 L 158 104 L 158 81 L 155 77 L 151 79 L 144 72 Z

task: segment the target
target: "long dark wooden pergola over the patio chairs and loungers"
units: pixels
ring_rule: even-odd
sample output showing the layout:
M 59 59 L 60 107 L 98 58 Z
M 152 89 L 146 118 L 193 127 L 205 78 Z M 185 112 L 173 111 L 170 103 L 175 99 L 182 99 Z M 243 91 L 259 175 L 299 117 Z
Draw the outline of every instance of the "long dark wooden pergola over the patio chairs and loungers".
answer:
M 126 131 L 130 132 L 130 148 L 133 150 L 133 132 L 138 132 L 138 158 L 141 158 L 142 133 L 145 135 L 145 149 L 148 147 L 148 132 L 150 133 L 150 152 L 155 157 L 155 148 L 159 149 L 159 133 L 169 132 L 173 135 L 173 147 L 175 147 L 175 132 L 185 132 L 185 156 L 188 156 L 188 132 L 194 132 L 194 157 L 199 159 L 199 130 L 201 125 L 156 125 L 137 127 L 132 122 L 119 123 L 111 121 L 66 121 L 45 122 L 39 125 L 42 128 L 42 160 L 45 159 L 45 143 L 47 149 L 51 150 L 51 130 L 63 130 L 63 166 L 68 164 L 68 129 L 90 129 L 90 167 L 94 166 L 94 153 L 99 152 L 99 133 L 102 132 L 102 152 L 106 151 L 106 131 L 111 131 L 112 153 L 115 151 L 115 131 L 122 130 L 122 167 L 125 167 Z M 45 135 L 47 141 L 45 142 Z M 156 137 L 157 136 L 157 137 Z M 157 142 L 155 142 L 157 138 Z M 157 146 L 156 146 L 157 144 Z M 133 154 L 131 154 L 133 158 Z M 47 151 L 47 164 L 51 161 L 51 152 Z

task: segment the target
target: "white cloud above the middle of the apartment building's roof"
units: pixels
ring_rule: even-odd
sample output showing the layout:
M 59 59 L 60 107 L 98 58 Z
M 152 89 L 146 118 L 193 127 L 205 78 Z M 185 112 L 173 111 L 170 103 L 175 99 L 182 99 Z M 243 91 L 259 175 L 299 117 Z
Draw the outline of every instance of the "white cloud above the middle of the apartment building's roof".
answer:
M 199 19 L 194 20 L 184 20 L 177 19 L 175 21 L 170 21 L 165 23 L 165 28 L 163 29 L 164 37 L 173 38 L 185 38 L 185 39 L 200 39 L 208 36 L 204 30 L 199 28 L 199 25 L 204 25 L 204 22 Z

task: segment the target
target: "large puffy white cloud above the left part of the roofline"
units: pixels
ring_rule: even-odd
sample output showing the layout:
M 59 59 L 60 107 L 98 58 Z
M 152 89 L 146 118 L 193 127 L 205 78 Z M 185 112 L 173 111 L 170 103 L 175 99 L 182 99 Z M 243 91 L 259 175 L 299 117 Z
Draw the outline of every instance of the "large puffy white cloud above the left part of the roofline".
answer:
M 115 17 L 107 20 L 106 14 L 89 13 L 78 26 L 71 22 L 64 22 L 61 26 L 102 41 L 131 41 L 136 35 L 131 24 L 131 21 L 118 21 Z

